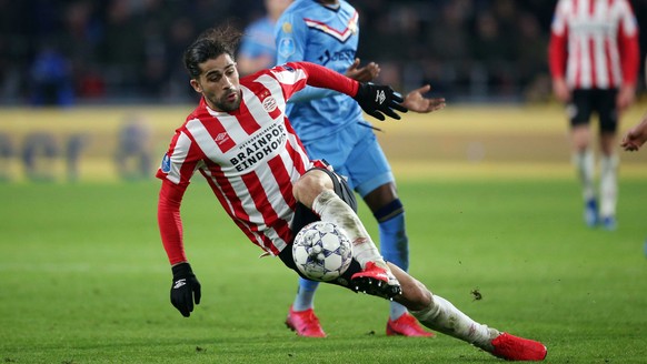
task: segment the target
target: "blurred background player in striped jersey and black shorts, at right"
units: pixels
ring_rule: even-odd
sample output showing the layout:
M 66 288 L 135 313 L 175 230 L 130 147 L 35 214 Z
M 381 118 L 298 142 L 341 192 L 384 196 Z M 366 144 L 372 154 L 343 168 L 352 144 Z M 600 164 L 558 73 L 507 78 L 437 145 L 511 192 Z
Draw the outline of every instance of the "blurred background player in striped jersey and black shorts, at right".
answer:
M 627 0 L 559 0 L 549 43 L 553 90 L 567 103 L 573 162 L 583 183 L 585 221 L 616 229 L 619 118 L 635 99 L 638 26 Z M 599 211 L 589 121 L 599 118 Z

